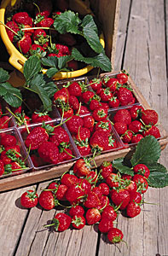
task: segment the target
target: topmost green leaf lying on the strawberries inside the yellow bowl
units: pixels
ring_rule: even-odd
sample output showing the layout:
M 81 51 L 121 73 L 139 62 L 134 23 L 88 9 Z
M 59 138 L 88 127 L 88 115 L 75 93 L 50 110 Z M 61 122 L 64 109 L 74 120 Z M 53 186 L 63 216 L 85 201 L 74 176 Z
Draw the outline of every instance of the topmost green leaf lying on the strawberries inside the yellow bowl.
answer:
M 80 34 L 80 31 L 78 30 L 78 25 L 80 23 L 81 20 L 78 18 L 78 14 L 75 15 L 74 12 L 68 10 L 55 17 L 54 27 L 55 30 L 61 34 L 65 34 L 66 32 Z

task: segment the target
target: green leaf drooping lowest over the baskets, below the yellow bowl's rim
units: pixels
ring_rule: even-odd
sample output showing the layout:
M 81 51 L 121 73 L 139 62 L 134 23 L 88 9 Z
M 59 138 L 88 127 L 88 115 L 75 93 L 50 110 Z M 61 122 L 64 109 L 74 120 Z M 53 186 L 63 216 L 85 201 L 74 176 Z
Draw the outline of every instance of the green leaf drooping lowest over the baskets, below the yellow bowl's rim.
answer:
M 37 74 L 30 81 L 31 90 L 38 94 L 41 101 L 43 102 L 43 109 L 47 111 L 51 111 L 52 102 L 49 98 L 49 94 L 47 90 L 44 89 L 45 81 L 43 79 L 43 74 Z

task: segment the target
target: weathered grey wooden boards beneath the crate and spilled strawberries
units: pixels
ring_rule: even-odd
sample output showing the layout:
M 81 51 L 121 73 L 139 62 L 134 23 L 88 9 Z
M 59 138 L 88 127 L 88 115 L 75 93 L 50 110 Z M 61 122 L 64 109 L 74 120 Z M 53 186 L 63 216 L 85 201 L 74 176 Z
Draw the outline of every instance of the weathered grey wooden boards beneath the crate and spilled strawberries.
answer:
M 130 70 L 148 103 L 159 113 L 167 130 L 167 23 L 164 0 L 121 0 L 115 69 Z M 168 166 L 168 148 L 160 162 Z M 38 184 L 38 191 L 46 183 Z M 136 218 L 119 216 L 125 243 L 115 247 L 93 227 L 63 233 L 43 230 L 55 215 L 39 207 L 20 207 L 20 195 L 28 188 L 0 194 L 0 255 L 5 256 L 156 256 L 168 255 L 168 188 L 148 189 L 142 212 Z

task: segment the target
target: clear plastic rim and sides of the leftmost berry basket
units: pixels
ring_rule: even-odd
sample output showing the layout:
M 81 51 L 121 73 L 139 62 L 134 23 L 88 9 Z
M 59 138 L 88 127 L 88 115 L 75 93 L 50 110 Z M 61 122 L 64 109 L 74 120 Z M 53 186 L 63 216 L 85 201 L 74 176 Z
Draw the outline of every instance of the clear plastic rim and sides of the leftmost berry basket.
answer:
M 26 167 L 23 170 L 20 171 L 15 171 L 7 174 L 3 174 L 0 178 L 4 177 L 11 177 L 11 176 L 16 176 L 23 174 L 25 172 L 29 172 L 32 170 L 32 160 L 30 159 L 30 156 L 26 152 L 25 145 L 20 137 L 20 132 L 14 127 L 14 128 L 9 128 L 7 130 L 0 131 L 0 137 L 5 134 L 10 134 L 16 138 L 17 145 L 20 146 L 20 154 L 22 156 L 22 159 L 24 160 Z

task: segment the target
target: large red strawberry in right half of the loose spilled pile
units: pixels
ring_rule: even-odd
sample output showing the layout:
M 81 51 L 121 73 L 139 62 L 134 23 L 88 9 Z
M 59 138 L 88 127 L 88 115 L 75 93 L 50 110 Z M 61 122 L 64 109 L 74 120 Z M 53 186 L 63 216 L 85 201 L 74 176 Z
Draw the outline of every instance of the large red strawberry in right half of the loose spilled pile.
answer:
M 113 189 L 111 199 L 116 206 L 120 206 L 119 209 L 123 210 L 130 201 L 130 193 L 126 189 Z

